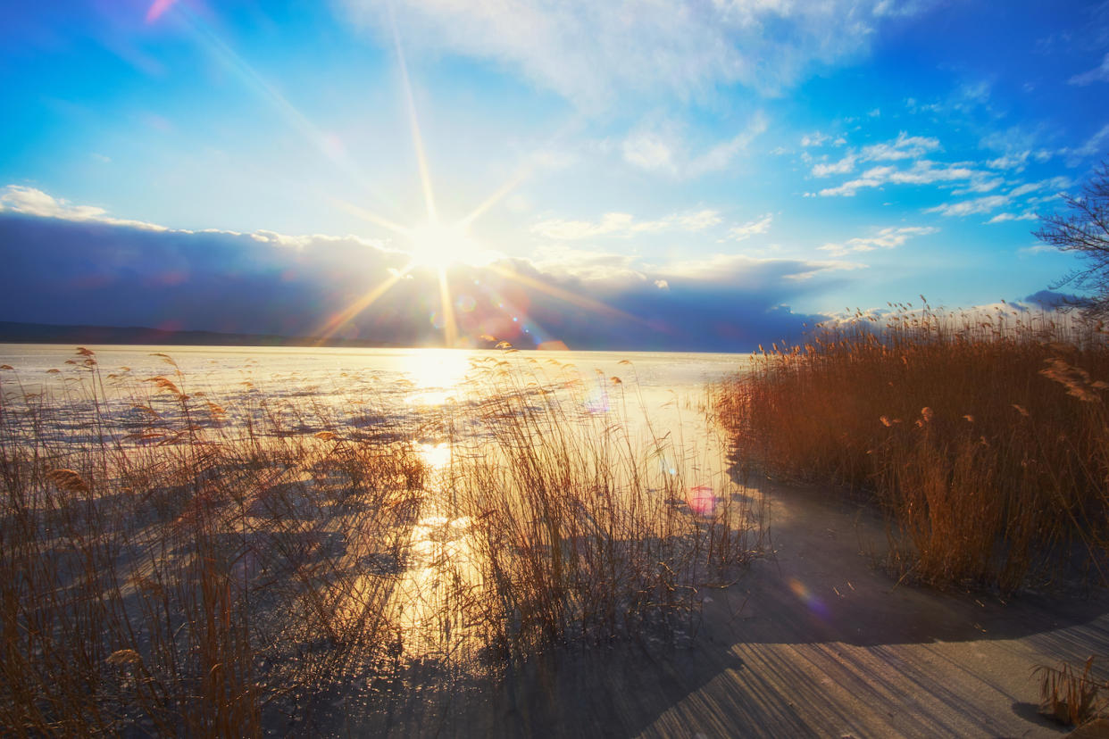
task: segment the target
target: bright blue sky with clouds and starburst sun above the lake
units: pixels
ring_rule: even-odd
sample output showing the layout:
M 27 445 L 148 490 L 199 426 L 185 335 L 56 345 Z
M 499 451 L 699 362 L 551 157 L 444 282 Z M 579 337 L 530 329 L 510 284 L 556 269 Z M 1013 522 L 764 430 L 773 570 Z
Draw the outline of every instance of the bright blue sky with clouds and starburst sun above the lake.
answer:
M 163 325 L 309 330 L 408 268 L 389 300 L 424 341 L 475 310 L 436 310 L 429 268 L 492 264 L 527 276 L 512 317 L 542 338 L 743 349 L 1042 290 L 1076 263 L 1036 214 L 1109 153 L 1109 2 L 8 6 L 0 320 L 141 324 L 162 296 Z M 74 255 L 112 287 L 51 276 Z M 268 312 L 216 326 L 205 275 Z M 475 292 L 489 326 L 509 311 Z

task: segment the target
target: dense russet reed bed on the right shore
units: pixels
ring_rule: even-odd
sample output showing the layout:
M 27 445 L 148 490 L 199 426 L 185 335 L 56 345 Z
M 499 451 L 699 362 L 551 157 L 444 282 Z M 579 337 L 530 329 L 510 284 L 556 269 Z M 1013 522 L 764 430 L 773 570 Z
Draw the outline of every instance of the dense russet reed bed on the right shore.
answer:
M 1106 582 L 1102 325 L 893 306 L 761 350 L 716 391 L 741 464 L 864 492 L 891 562 L 934 584 Z

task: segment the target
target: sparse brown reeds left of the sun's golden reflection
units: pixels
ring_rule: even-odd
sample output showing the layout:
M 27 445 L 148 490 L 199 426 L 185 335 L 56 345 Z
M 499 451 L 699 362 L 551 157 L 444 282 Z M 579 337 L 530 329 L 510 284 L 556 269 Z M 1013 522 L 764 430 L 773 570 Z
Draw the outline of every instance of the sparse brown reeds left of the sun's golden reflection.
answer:
M 186 394 L 169 358 L 138 382 L 78 359 L 60 387 L 2 387 L 0 726 L 254 735 L 380 658 L 390 578 L 362 564 L 418 515 L 410 444 Z

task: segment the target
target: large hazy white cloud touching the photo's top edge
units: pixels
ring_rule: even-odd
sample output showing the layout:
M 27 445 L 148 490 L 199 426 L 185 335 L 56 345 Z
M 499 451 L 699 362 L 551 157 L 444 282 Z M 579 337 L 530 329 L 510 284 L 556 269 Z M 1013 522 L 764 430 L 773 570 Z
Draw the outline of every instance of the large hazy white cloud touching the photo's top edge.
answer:
M 353 18 L 390 33 L 388 3 L 344 0 Z M 775 94 L 814 66 L 865 52 L 883 20 L 922 2 L 889 0 L 407 0 L 400 39 L 415 51 L 502 63 L 563 96 L 611 105 L 617 93 L 698 95 L 740 83 Z

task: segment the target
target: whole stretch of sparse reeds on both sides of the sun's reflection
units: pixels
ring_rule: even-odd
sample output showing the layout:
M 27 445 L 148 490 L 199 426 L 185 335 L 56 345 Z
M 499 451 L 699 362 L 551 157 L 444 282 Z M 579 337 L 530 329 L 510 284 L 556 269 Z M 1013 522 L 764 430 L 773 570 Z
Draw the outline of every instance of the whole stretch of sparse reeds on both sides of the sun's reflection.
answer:
M 191 386 L 162 360 L 0 370 L 6 731 L 380 728 L 352 714 L 401 678 L 685 638 L 698 589 L 757 541 L 721 460 L 633 428 L 610 379 L 601 412 L 568 368 L 506 355 L 415 412 L 349 382 Z

